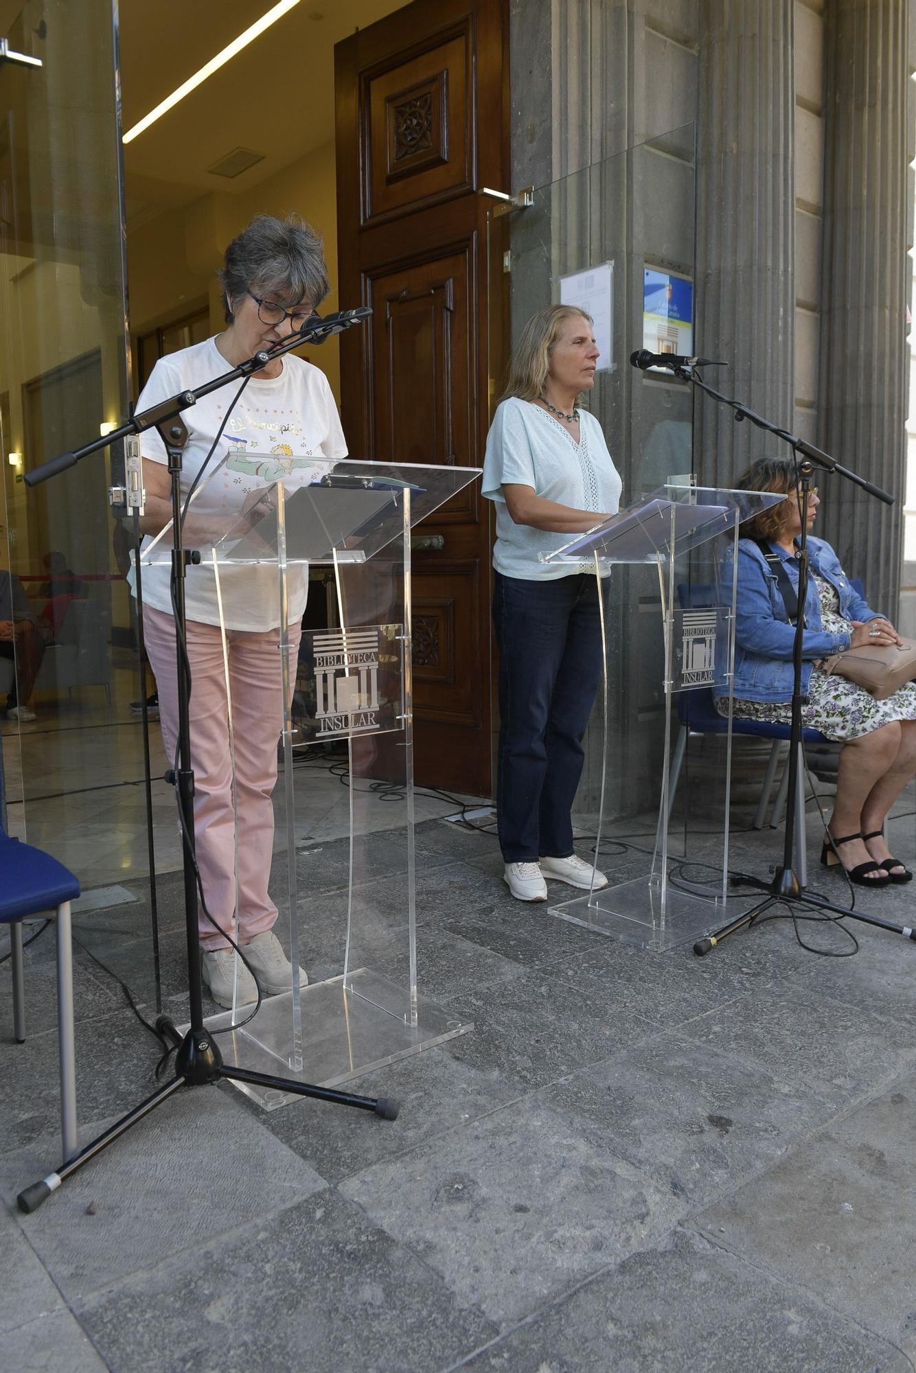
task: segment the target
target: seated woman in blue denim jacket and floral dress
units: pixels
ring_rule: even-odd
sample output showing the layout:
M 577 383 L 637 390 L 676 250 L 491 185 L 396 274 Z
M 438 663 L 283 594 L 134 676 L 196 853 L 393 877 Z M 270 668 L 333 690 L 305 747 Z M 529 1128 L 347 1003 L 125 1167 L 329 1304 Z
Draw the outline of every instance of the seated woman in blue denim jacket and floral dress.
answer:
M 794 555 L 802 526 L 794 464 L 762 459 L 736 485 L 751 492 L 787 492 L 788 500 L 740 529 L 733 714 L 736 719 L 787 725 L 795 627 L 790 623 L 776 574 L 754 541 L 766 541 L 779 555 L 798 592 Z M 814 489 L 808 511 L 809 531 L 818 504 Z M 864 686 L 823 670 L 821 660 L 832 654 L 860 644 L 895 644 L 900 636 L 890 621 L 850 586 L 829 544 L 812 537 L 808 548 L 810 577 L 802 638 L 802 691 L 808 704 L 802 708 L 802 724 L 843 744 L 821 862 L 832 866 L 839 859 L 853 881 L 862 886 L 909 881 L 912 873 L 891 857 L 884 843 L 883 825 L 916 772 L 916 684 L 908 682 L 887 700 L 875 700 Z M 724 714 L 726 697 L 717 697 L 717 707 Z

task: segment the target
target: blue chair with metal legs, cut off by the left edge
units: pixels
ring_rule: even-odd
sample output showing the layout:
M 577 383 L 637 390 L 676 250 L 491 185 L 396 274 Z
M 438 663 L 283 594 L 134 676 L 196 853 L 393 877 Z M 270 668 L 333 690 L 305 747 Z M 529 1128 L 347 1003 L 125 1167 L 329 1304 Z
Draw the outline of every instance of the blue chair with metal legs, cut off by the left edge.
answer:
M 58 935 L 58 1046 L 60 1059 L 60 1134 L 65 1162 L 77 1152 L 77 1086 L 73 1031 L 73 946 L 70 902 L 80 895 L 73 873 L 41 849 L 11 839 L 3 824 L 3 750 L 0 748 L 0 924 L 10 925 L 12 1032 L 25 1043 L 22 921 L 47 912 Z

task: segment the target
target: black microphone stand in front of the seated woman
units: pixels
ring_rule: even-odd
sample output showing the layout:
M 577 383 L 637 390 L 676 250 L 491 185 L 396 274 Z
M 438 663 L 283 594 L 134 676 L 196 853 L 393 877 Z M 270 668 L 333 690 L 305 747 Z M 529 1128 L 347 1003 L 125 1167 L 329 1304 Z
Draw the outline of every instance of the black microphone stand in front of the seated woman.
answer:
M 634 364 L 637 365 L 637 364 Z M 798 552 L 795 555 L 798 564 L 798 615 L 795 618 L 795 638 L 792 643 L 792 714 L 791 714 L 791 729 L 790 729 L 790 744 L 788 744 L 788 795 L 786 802 L 786 832 L 783 839 L 783 864 L 776 869 L 772 881 L 762 881 L 758 877 L 740 877 L 737 881 L 742 886 L 758 887 L 761 891 L 766 892 L 766 899 L 759 901 L 755 906 L 747 910 L 743 916 L 736 920 L 729 920 L 728 924 L 717 930 L 715 934 L 707 935 L 705 939 L 698 939 L 694 945 L 694 953 L 698 957 L 703 957 L 711 949 L 715 949 L 722 939 L 728 939 L 737 930 L 743 930 L 744 925 L 755 924 L 759 917 L 769 910 L 772 906 L 788 905 L 790 909 L 794 905 L 803 906 L 810 910 L 831 912 L 836 916 L 845 919 L 861 920 L 868 925 L 878 925 L 879 930 L 887 930 L 891 934 L 902 935 L 906 939 L 916 941 L 916 930 L 909 930 L 904 925 L 895 925 L 890 920 L 880 920 L 878 916 L 865 914 L 862 910 L 850 910 L 847 906 L 838 906 L 832 901 L 827 901 L 825 897 L 814 895 L 813 892 L 805 891 L 794 866 L 794 844 L 795 844 L 795 814 L 798 806 L 798 766 L 799 766 L 799 752 L 802 740 L 802 706 L 806 703 L 808 697 L 802 692 L 802 636 L 805 633 L 805 592 L 808 588 L 808 504 L 812 490 L 812 474 L 814 465 L 823 468 L 827 472 L 838 472 L 847 481 L 854 482 L 856 486 L 861 486 L 862 490 L 868 492 L 869 496 L 878 497 L 878 500 L 884 501 L 886 505 L 894 504 L 894 497 L 887 492 L 882 490 L 880 486 L 875 486 L 872 482 L 865 481 L 858 472 L 850 471 L 850 468 L 843 467 L 836 459 L 831 457 L 829 453 L 824 453 L 823 449 L 816 448 L 813 443 L 808 443 L 805 439 L 798 438 L 788 430 L 780 428 L 777 424 L 772 424 L 769 420 L 764 419 L 762 415 L 757 415 L 747 405 L 740 401 L 733 400 L 729 395 L 722 395 L 721 391 L 714 390 L 709 386 L 700 376 L 696 375 L 695 368 L 689 365 L 672 368 L 676 376 L 683 380 L 689 382 L 692 386 L 705 391 L 714 401 L 721 401 L 724 405 L 731 406 L 735 411 L 735 420 L 750 420 L 758 428 L 766 430 L 768 434 L 775 434 L 776 438 L 781 439 L 784 443 L 792 449 L 792 453 L 799 457 L 798 474 L 801 486 L 801 522 L 802 530 L 798 541 Z M 735 880 L 735 879 L 733 879 Z

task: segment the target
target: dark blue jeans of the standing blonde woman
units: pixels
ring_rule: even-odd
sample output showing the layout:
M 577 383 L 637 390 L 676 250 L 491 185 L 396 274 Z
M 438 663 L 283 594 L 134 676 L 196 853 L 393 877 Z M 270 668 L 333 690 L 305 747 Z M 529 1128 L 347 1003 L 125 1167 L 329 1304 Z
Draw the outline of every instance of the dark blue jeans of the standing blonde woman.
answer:
M 497 825 L 505 862 L 569 858 L 582 737 L 602 681 L 595 577 L 494 573 L 500 645 Z M 607 610 L 607 579 L 603 584 Z

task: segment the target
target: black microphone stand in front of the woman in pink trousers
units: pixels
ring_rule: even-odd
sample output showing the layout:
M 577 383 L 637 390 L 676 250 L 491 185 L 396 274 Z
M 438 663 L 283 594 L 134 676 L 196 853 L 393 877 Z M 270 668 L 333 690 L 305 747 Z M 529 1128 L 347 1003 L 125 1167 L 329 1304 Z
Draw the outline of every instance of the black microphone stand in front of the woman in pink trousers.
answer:
M 121 1116 L 113 1126 L 92 1140 L 91 1144 L 80 1149 L 71 1159 L 65 1159 L 55 1173 L 48 1174 L 40 1182 L 33 1182 L 16 1197 L 21 1211 L 36 1211 L 41 1203 L 55 1192 L 62 1182 L 71 1177 L 78 1168 L 100 1153 L 107 1145 L 137 1124 L 144 1116 L 155 1111 L 158 1105 L 173 1096 L 183 1086 L 205 1086 L 218 1082 L 221 1078 L 231 1078 L 235 1082 L 254 1083 L 262 1087 L 273 1087 L 277 1092 L 288 1092 L 301 1097 L 319 1097 L 321 1101 L 332 1101 L 336 1105 L 358 1107 L 363 1111 L 372 1111 L 386 1120 L 394 1120 L 398 1114 L 396 1101 L 386 1097 L 378 1100 L 372 1097 L 358 1097 L 349 1092 L 335 1092 L 328 1087 L 319 1087 L 309 1082 L 297 1082 L 290 1078 L 279 1078 L 266 1072 L 251 1072 L 247 1068 L 236 1068 L 222 1061 L 222 1054 L 207 1028 L 203 1024 L 203 1004 L 201 987 L 201 953 L 198 935 L 198 869 L 194 844 L 194 772 L 191 768 L 191 728 L 188 719 L 188 703 L 191 681 L 185 670 L 181 645 L 185 643 L 185 612 L 184 612 L 184 578 L 188 564 L 198 564 L 201 555 L 196 551 L 185 549 L 181 538 L 181 454 L 188 439 L 188 431 L 181 419 L 181 412 L 190 409 L 202 395 L 209 395 L 229 382 L 239 378 L 250 378 L 260 372 L 273 358 L 282 357 L 294 347 L 308 342 L 321 342 L 331 334 L 357 324 L 372 312 L 369 309 L 345 310 L 336 316 L 327 316 L 324 320 L 313 316 L 310 321 L 291 334 L 283 343 L 276 345 L 269 351 L 255 353 L 254 357 L 239 367 L 232 368 L 224 376 L 206 382 L 192 391 L 180 391 L 176 395 L 161 401 L 148 411 L 135 415 L 119 428 L 95 439 L 70 453 L 62 453 L 43 463 L 27 472 L 25 482 L 27 486 L 37 486 L 48 478 L 69 467 L 74 467 L 107 448 L 110 443 L 132 434 L 143 434 L 155 428 L 165 443 L 169 459 L 169 476 L 172 489 L 172 584 L 176 615 L 176 671 L 179 682 L 179 762 L 174 773 L 166 773 L 166 780 L 172 781 L 177 791 L 179 807 L 181 811 L 183 832 L 183 862 L 184 862 L 184 910 L 188 953 L 188 994 L 190 994 L 190 1027 L 181 1037 L 168 1016 L 159 1016 L 155 1022 L 163 1042 L 169 1042 L 177 1049 L 174 1063 L 174 1076 L 162 1087 L 148 1096 L 126 1115 Z M 297 971 L 294 969 L 294 976 Z

